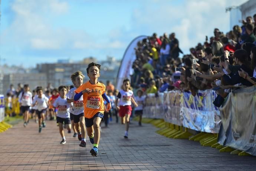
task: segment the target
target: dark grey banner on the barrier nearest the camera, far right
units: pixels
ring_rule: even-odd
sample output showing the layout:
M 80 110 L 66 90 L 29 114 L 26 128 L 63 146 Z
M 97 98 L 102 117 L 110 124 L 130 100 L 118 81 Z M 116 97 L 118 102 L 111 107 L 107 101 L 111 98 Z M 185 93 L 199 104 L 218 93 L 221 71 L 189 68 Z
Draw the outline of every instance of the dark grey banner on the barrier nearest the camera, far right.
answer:
M 218 142 L 256 155 L 256 87 L 233 89 L 220 113 Z

